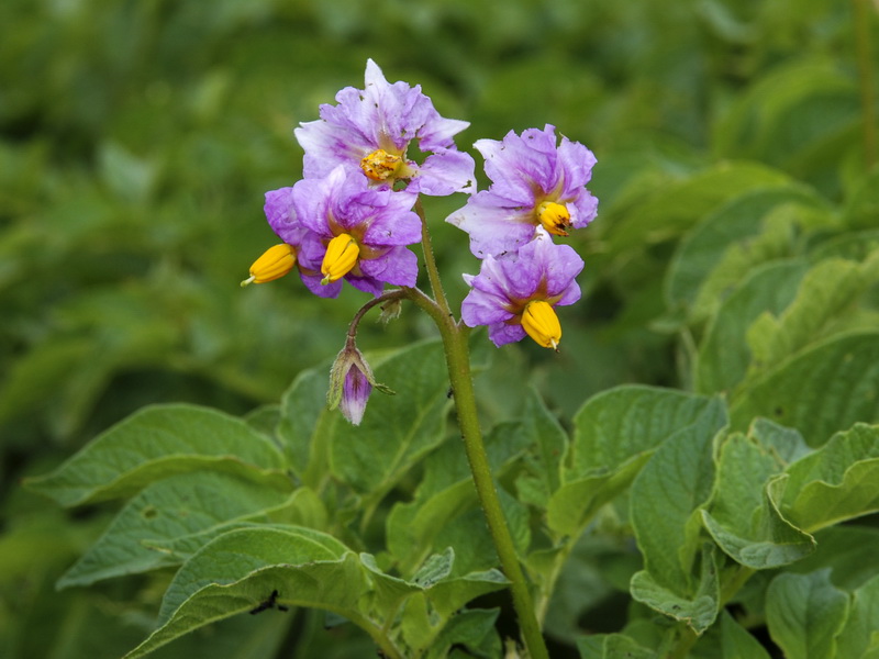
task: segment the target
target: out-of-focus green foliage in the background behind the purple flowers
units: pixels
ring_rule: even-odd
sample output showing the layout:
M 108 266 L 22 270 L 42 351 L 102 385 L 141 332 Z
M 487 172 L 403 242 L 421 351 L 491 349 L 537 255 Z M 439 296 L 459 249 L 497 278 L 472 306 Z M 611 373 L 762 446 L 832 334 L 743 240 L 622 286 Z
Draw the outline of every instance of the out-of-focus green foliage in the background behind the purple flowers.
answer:
M 563 350 L 504 348 L 480 384 L 492 417 L 515 407 L 519 375 L 565 420 L 622 382 L 687 386 L 660 290 L 679 235 L 623 233 L 692 212 L 666 190 L 746 160 L 830 204 L 852 192 L 875 157 L 861 111 L 875 31 L 866 0 L 4 0 L 0 655 L 115 657 L 162 593 L 124 580 L 55 593 L 112 511 L 57 510 L 22 477 L 147 403 L 276 402 L 342 347 L 361 293 L 238 282 L 277 242 L 264 192 L 301 175 L 293 127 L 363 87 L 368 57 L 469 121 L 461 149 L 550 123 L 596 153 L 599 217 L 570 239 L 585 299 L 561 314 Z M 455 305 L 478 269 L 443 223 L 463 203 L 425 202 Z M 364 349 L 434 335 L 411 309 L 361 327 Z

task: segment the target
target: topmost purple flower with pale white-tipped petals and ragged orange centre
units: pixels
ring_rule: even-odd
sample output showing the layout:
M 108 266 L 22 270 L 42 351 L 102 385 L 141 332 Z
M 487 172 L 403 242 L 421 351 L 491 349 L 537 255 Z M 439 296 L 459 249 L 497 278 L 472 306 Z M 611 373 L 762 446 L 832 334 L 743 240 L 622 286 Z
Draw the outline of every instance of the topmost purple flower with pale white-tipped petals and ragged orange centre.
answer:
M 369 59 L 365 89 L 346 87 L 336 101 L 321 105 L 320 120 L 294 131 L 305 149 L 305 178 L 324 177 L 344 165 L 366 175 L 372 187 L 405 180 L 409 191 L 424 194 L 475 190 L 474 159 L 456 150 L 452 139 L 470 124 L 439 116 L 421 86 L 390 85 Z M 421 165 L 407 156 L 413 141 L 432 154 Z

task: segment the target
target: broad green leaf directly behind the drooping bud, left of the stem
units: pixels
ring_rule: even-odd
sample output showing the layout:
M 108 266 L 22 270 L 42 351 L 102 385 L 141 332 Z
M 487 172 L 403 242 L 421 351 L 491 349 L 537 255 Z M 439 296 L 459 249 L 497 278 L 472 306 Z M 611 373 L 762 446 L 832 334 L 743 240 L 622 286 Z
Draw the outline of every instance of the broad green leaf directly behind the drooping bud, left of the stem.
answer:
M 333 473 L 355 490 L 379 496 L 442 443 L 450 401 L 438 342 L 399 350 L 374 370 L 397 394 L 374 393 L 359 426 L 336 424 L 323 440 L 330 443 Z

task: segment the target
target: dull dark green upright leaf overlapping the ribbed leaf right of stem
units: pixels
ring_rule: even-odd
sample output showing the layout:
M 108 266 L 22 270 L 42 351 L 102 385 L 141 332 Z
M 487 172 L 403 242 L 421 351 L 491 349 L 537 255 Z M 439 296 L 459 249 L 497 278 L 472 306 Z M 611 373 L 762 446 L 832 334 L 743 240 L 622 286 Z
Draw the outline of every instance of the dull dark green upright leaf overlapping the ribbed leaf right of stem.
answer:
M 701 526 L 697 511 L 713 487 L 713 440 L 726 424 L 723 405 L 715 401 L 712 407 L 659 446 L 630 493 L 630 518 L 646 571 L 685 597 L 694 592 L 691 571 Z

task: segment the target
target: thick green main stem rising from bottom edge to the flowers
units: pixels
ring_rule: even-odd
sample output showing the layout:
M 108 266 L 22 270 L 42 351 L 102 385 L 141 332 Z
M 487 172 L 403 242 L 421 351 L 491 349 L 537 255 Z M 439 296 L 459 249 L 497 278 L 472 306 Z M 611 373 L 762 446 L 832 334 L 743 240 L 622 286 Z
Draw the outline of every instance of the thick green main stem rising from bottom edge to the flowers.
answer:
M 470 472 L 472 473 L 477 496 L 486 515 L 491 538 L 494 541 L 494 549 L 498 552 L 503 573 L 510 580 L 510 591 L 513 597 L 513 606 L 519 617 L 522 639 L 531 659 L 548 659 L 549 654 L 541 635 L 541 626 L 534 615 L 534 604 L 528 592 L 528 584 L 525 581 L 522 567 L 519 565 L 515 545 L 507 526 L 507 520 L 503 516 L 503 509 L 498 498 L 498 490 L 494 488 L 494 479 L 491 476 L 486 446 L 482 442 L 482 432 L 476 409 L 476 394 L 470 375 L 470 354 L 467 345 L 469 328 L 457 324 L 448 313 L 439 308 L 437 302 L 427 298 L 423 292 L 418 289 L 408 290 L 410 291 L 410 299 L 436 322 L 439 334 L 443 337 L 446 366 L 448 367 L 448 377 L 455 396 L 458 426 L 464 438 L 465 451 L 470 463 Z

